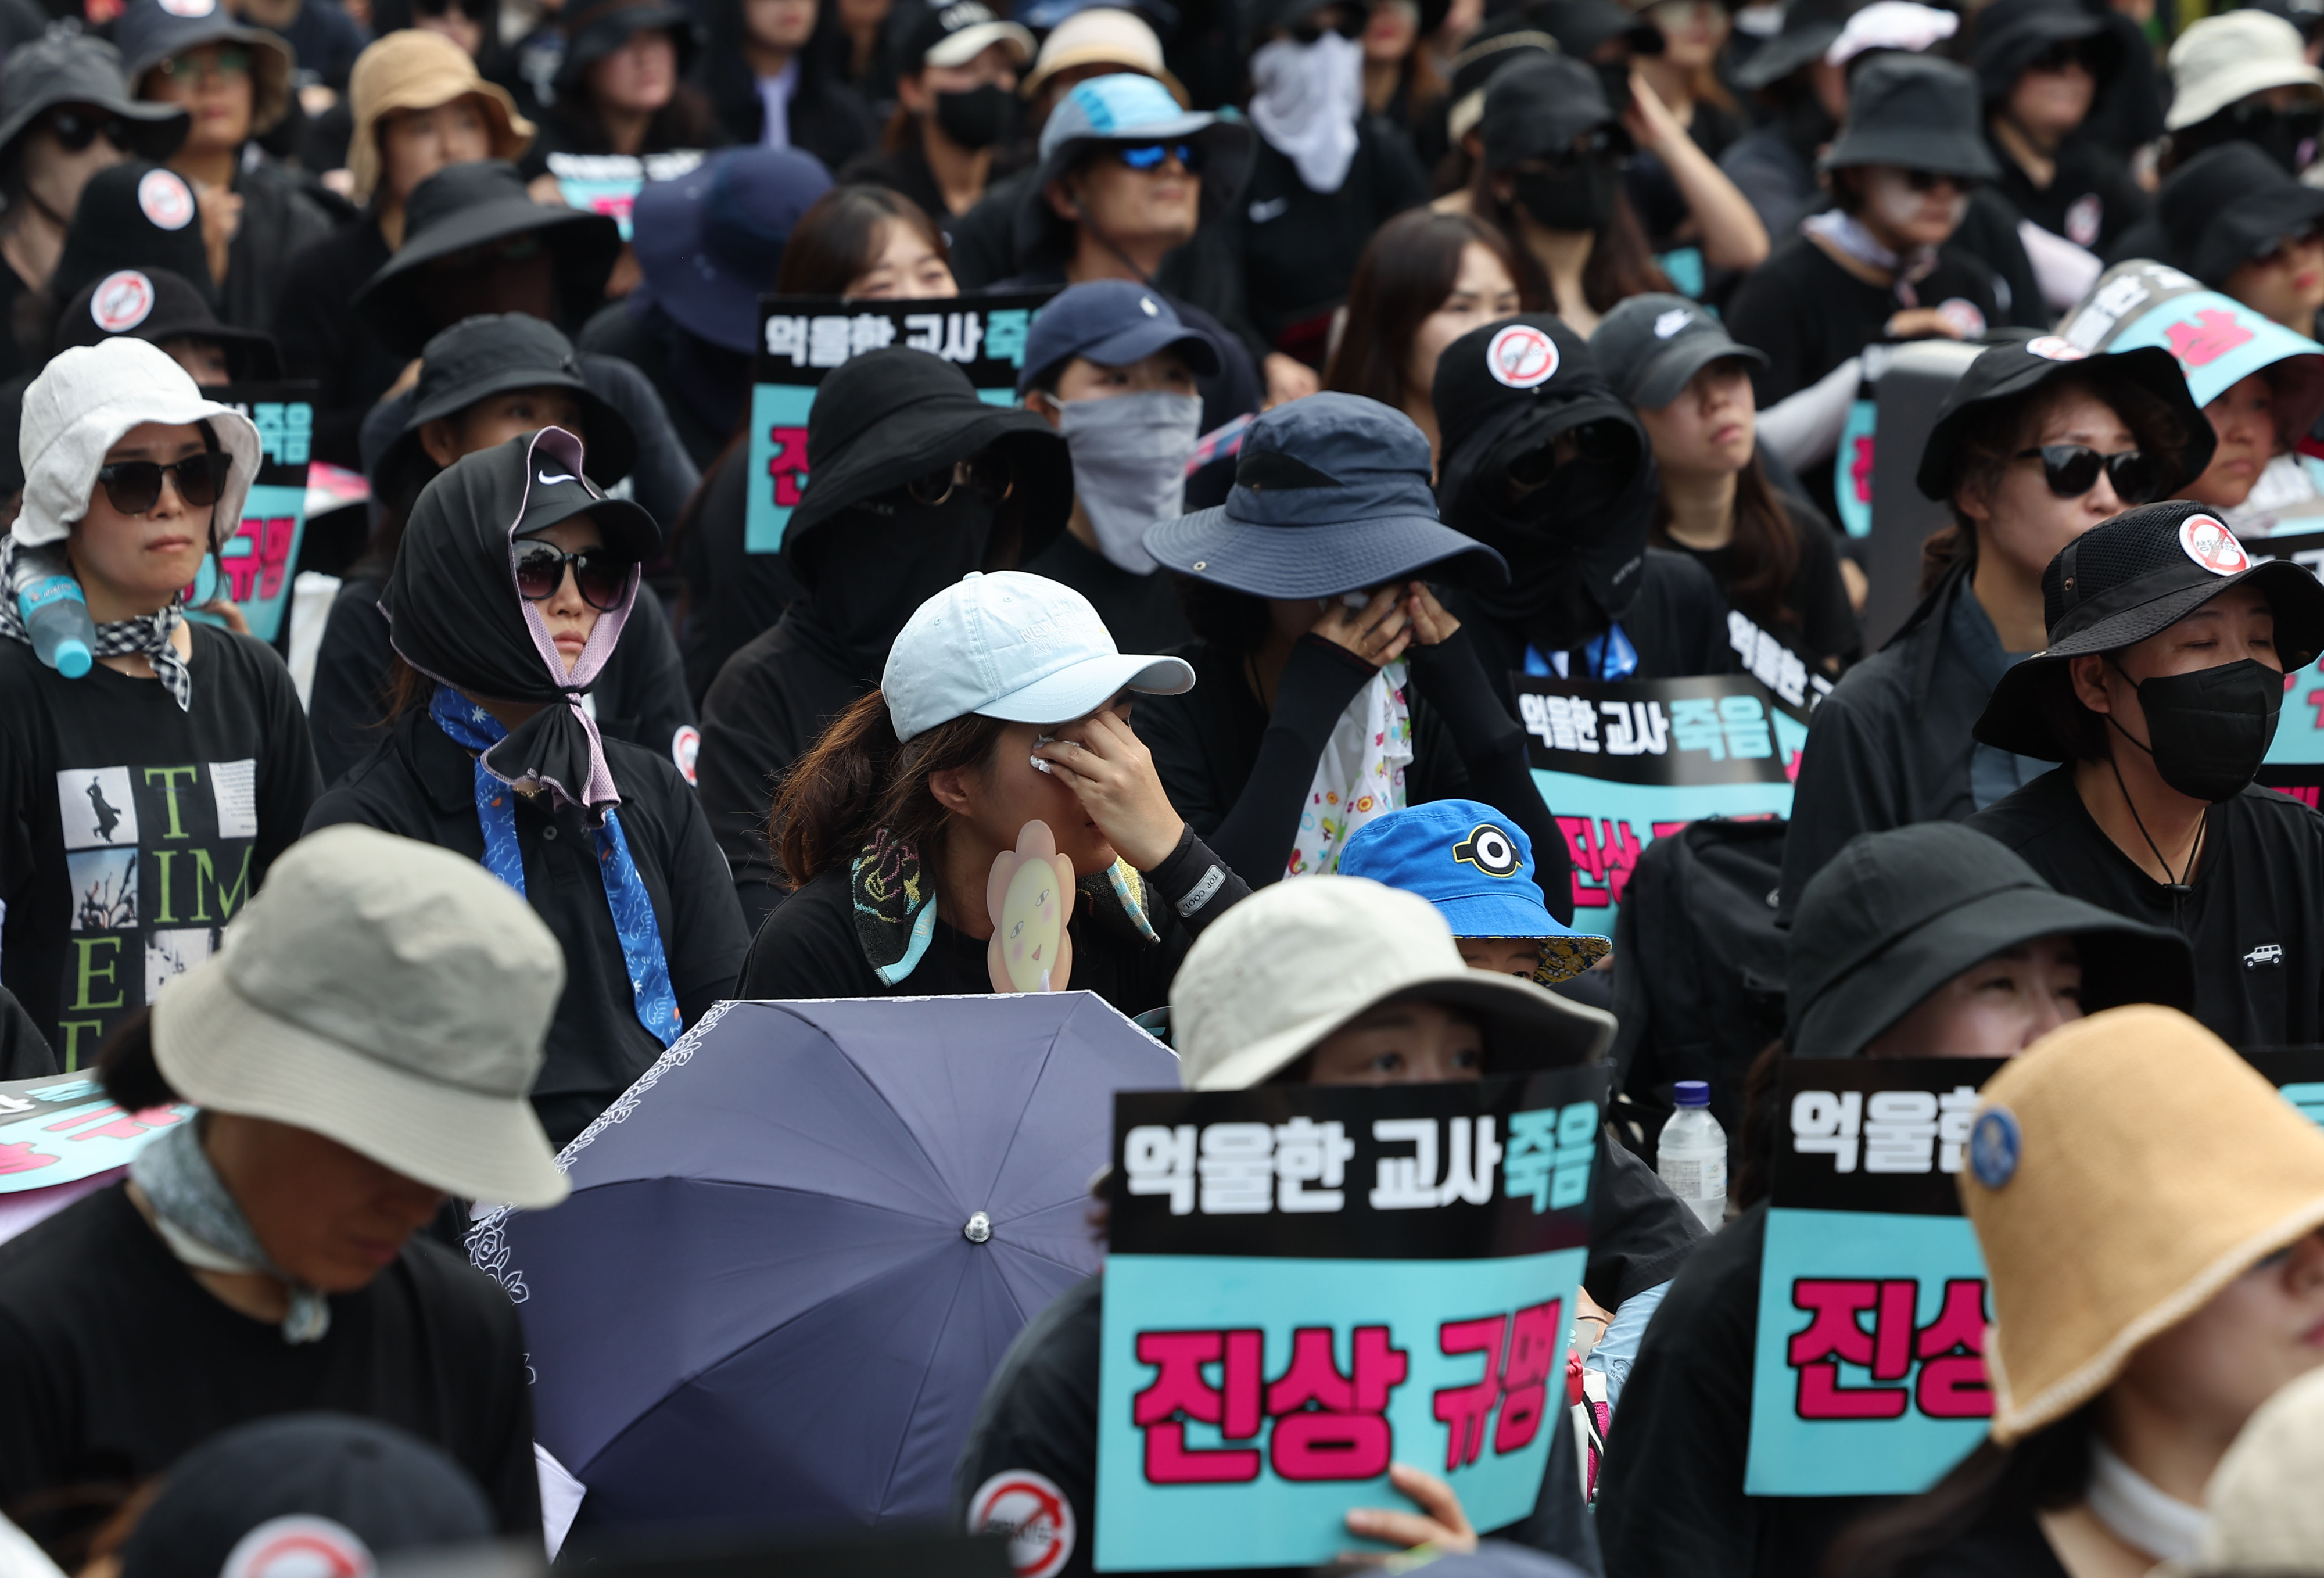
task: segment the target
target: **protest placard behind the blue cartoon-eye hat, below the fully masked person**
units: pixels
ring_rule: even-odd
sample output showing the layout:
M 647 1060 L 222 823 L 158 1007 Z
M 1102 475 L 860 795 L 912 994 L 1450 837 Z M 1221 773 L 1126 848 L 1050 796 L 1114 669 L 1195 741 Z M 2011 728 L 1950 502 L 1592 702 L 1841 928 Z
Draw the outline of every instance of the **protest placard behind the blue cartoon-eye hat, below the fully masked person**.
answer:
M 1573 858 L 1573 925 L 1611 937 L 1622 888 L 1655 839 L 1703 816 L 1789 816 L 1808 711 L 1831 693 L 1778 641 L 1729 618 L 1736 648 L 1773 676 L 1587 681 L 1511 674 L 1532 737 L 1534 788 Z M 1536 851 L 1543 881 L 1557 860 Z

